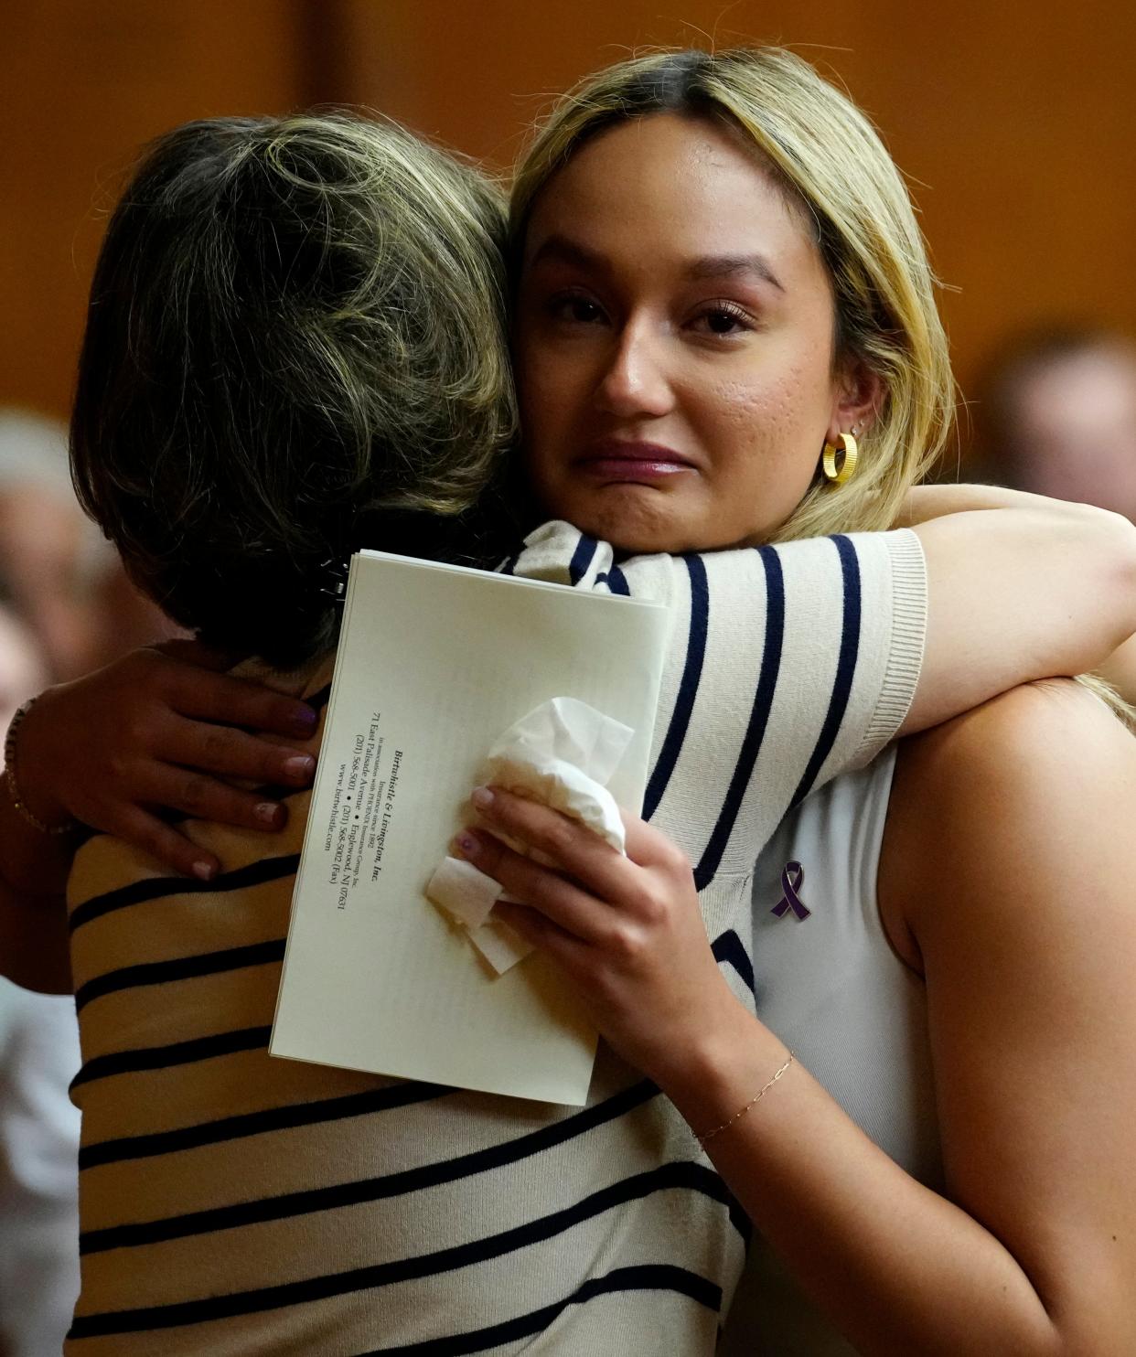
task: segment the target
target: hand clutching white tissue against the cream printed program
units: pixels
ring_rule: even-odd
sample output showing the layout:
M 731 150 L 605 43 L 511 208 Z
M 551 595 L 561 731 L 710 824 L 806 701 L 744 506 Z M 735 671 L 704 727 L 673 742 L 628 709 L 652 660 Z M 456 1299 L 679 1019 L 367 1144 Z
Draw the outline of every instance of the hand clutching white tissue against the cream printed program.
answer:
M 524 901 L 498 901 L 494 917 L 547 951 L 604 1037 L 666 1086 L 740 1008 L 710 950 L 687 859 L 627 811 L 623 858 L 578 821 L 498 787 L 478 788 L 474 805 L 485 829 L 459 836 L 461 854 Z

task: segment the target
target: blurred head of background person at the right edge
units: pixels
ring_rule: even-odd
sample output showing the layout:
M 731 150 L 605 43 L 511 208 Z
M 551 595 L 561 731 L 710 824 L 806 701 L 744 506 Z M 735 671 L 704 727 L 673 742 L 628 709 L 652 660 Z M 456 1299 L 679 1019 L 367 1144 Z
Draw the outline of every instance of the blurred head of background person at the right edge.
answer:
M 1007 345 L 980 381 L 983 472 L 998 484 L 1099 505 L 1136 522 L 1136 343 L 1049 326 Z M 1136 639 L 1101 673 L 1136 702 Z

